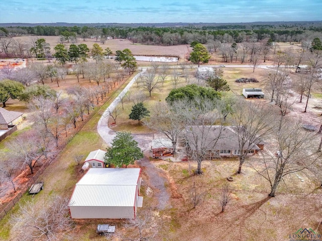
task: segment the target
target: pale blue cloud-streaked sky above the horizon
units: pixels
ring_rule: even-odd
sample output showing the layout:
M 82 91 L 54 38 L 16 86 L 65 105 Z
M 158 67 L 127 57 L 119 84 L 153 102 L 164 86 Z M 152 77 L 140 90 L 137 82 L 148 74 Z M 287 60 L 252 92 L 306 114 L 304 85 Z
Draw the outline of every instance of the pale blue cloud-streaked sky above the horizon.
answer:
M 0 0 L 0 23 L 322 20 L 322 0 Z

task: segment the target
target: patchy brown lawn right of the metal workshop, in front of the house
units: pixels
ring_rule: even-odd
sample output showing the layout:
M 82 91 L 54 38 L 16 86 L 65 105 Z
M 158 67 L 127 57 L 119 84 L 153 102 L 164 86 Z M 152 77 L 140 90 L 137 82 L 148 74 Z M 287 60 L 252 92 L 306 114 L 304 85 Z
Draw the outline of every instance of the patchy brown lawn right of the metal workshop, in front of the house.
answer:
M 241 175 L 233 175 L 238 168 L 237 159 L 205 161 L 202 176 L 190 176 L 195 163 L 159 162 L 156 166 L 167 173 L 173 197 L 172 208 L 160 212 L 171 217 L 165 229 L 170 231 L 162 232 L 165 240 L 289 240 L 288 235 L 298 226 L 307 224 L 315 229 L 320 220 L 317 210 L 321 207 L 322 190 L 316 190 L 307 178 L 300 182 L 295 174 L 280 184 L 275 198 L 269 198 L 269 183 L 253 169 L 245 165 Z M 229 176 L 233 176 L 232 182 L 227 182 Z M 205 193 L 196 208 L 192 208 L 191 201 L 193 183 L 197 193 Z M 220 213 L 220 189 L 224 183 L 232 189 L 232 200 Z M 299 217 L 290 218 L 299 210 Z

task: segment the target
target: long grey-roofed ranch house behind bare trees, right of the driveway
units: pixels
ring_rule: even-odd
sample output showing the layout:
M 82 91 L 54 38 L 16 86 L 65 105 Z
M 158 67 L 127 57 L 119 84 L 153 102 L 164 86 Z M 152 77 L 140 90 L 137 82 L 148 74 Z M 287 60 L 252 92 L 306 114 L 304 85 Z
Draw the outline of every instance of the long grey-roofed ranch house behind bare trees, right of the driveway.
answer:
M 208 158 L 229 157 L 240 154 L 237 129 L 234 126 L 191 126 L 186 128 L 187 144 L 191 150 L 203 146 Z M 197 141 L 196 141 L 197 140 Z M 202 144 L 201 144 L 202 142 Z M 264 149 L 264 141 L 247 143 L 248 155 Z

